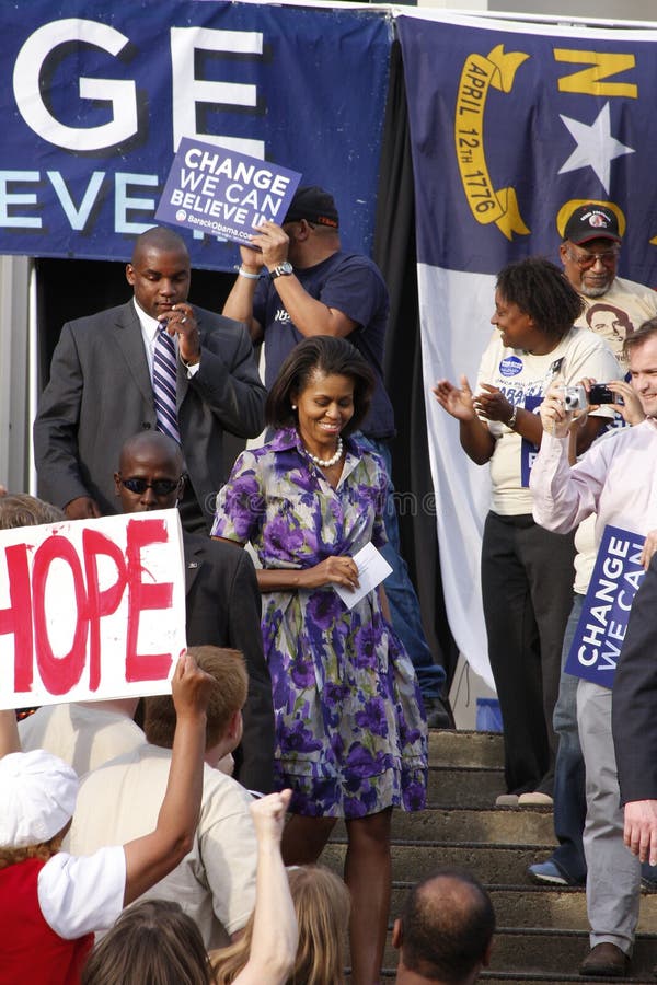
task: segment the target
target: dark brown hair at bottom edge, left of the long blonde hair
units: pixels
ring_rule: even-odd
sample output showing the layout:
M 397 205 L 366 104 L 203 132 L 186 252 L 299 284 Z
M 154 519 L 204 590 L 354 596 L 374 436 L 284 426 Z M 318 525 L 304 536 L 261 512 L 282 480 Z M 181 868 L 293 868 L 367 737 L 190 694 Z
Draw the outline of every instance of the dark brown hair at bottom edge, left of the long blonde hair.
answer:
M 178 903 L 145 900 L 124 909 L 95 946 L 81 985 L 212 985 L 200 930 Z

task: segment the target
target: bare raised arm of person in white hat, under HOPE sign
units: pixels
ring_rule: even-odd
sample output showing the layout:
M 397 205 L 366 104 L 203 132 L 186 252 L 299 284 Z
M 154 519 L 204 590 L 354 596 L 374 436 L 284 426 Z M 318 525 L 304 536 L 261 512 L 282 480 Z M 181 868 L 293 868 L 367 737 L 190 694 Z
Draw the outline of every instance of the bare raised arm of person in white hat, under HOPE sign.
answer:
M 176 727 L 169 783 L 155 830 L 124 847 L 124 906 L 175 869 L 192 848 L 200 813 L 206 709 L 212 684 L 192 657 L 181 657 L 172 682 Z

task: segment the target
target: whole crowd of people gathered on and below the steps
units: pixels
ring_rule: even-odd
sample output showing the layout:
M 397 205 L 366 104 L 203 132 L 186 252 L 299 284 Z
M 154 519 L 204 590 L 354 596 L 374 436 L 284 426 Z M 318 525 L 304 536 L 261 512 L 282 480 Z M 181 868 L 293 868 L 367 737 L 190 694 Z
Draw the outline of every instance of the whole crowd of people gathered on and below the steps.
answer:
M 62 328 L 34 425 L 43 499 L 0 495 L 0 528 L 177 509 L 188 649 L 171 697 L 0 712 L 2 981 L 380 980 L 392 812 L 425 807 L 445 672 L 399 553 L 387 290 L 338 228 L 331 195 L 299 189 L 241 247 L 217 315 L 188 301 L 185 244 L 155 227 L 126 268 L 132 299 Z M 626 741 L 637 680 L 657 687 L 657 517 L 635 464 L 657 417 L 657 294 L 618 278 L 621 242 L 615 208 L 575 209 L 563 270 L 499 273 L 476 385 L 434 390 L 491 467 L 497 804 L 553 804 L 558 847 L 529 874 L 586 882 L 593 976 L 625 974 L 639 862 L 657 861 L 657 787 Z M 615 403 L 567 402 L 596 382 Z M 258 441 L 230 463 L 224 431 Z M 610 688 L 564 669 L 608 523 L 646 535 L 648 570 L 613 715 Z M 361 590 L 372 547 L 392 573 Z M 318 865 L 338 819 L 344 880 Z M 494 928 L 472 874 L 433 873 L 394 926 L 397 981 L 469 985 Z

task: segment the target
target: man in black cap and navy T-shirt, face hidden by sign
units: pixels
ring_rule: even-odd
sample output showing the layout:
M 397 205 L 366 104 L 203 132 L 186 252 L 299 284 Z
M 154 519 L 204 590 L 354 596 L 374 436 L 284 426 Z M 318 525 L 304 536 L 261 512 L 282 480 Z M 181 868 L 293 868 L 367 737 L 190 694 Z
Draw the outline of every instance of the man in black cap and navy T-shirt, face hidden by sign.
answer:
M 223 314 L 244 322 L 254 344 L 264 339 L 267 389 L 302 338 L 348 337 L 374 371 L 377 385 L 361 431 L 390 475 L 394 415 L 382 373 L 388 289 L 369 257 L 342 250 L 338 230 L 333 196 L 318 186 L 299 188 L 283 224 L 264 222 L 251 239 L 253 248 L 240 247 L 242 264 Z M 393 568 L 385 582 L 392 622 L 417 672 L 429 725 L 449 727 L 440 700 L 445 671 L 434 663 L 422 629 L 417 595 L 399 554 L 392 499 L 385 530 L 384 554 Z

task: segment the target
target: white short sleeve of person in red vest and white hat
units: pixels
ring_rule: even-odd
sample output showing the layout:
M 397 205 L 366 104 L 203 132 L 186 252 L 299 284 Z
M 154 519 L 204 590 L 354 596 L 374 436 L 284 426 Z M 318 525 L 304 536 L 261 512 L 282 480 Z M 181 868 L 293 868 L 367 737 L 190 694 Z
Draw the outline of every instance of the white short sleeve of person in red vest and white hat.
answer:
M 74 940 L 114 924 L 123 909 L 125 888 L 123 847 L 80 857 L 58 851 L 38 874 L 38 904 L 53 930 Z

